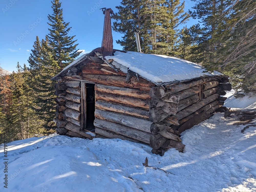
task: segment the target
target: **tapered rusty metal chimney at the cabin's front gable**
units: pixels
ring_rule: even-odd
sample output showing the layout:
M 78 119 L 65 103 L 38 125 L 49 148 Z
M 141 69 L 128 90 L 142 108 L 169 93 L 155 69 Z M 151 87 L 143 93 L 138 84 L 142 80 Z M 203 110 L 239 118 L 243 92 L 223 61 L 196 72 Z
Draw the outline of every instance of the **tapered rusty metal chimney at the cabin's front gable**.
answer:
M 112 28 L 111 28 L 111 17 L 110 14 L 114 15 L 114 12 L 111 8 L 101 8 L 103 11 L 104 17 L 104 27 L 103 27 L 103 39 L 102 39 L 102 56 L 105 60 L 105 56 L 113 55 L 113 37 L 112 37 Z

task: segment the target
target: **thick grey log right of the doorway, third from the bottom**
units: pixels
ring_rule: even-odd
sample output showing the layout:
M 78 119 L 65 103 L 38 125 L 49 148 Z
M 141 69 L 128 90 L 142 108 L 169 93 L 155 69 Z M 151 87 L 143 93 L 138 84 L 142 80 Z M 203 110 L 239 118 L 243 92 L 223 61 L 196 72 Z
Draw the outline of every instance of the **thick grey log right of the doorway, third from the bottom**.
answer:
M 138 129 L 141 131 L 145 131 L 147 133 L 151 133 L 150 127 L 152 122 L 146 120 L 146 119 L 141 119 L 129 115 L 125 115 L 122 113 L 114 113 L 110 111 L 103 111 L 100 109 L 95 110 L 95 117 L 107 121 L 111 121 L 114 123 L 119 123 L 128 127 L 132 127 L 134 129 Z

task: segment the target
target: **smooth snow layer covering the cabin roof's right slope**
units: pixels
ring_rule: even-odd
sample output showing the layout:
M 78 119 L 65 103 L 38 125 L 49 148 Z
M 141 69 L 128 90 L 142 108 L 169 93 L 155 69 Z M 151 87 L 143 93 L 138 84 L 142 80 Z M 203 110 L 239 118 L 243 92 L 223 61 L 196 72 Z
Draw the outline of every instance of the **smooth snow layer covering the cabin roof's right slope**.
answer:
M 196 63 L 165 55 L 116 51 L 114 56 L 105 58 L 113 59 L 155 83 L 181 81 L 211 75 L 203 72 L 202 66 Z

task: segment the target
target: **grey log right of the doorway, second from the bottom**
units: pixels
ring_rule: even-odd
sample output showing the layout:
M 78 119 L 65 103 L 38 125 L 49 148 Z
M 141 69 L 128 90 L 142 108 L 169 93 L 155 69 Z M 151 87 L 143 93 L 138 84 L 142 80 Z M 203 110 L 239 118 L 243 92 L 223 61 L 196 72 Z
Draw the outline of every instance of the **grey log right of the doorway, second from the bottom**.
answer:
M 141 141 L 147 144 L 149 144 L 150 136 L 153 135 L 151 133 L 147 133 L 144 131 L 133 129 L 131 127 L 127 127 L 125 125 L 121 125 L 121 124 L 110 122 L 110 121 L 105 121 L 98 118 L 94 120 L 94 126 L 108 130 L 108 131 L 112 131 L 114 133 L 124 135 L 126 137 L 130 137 L 132 139 L 136 139 L 138 141 Z

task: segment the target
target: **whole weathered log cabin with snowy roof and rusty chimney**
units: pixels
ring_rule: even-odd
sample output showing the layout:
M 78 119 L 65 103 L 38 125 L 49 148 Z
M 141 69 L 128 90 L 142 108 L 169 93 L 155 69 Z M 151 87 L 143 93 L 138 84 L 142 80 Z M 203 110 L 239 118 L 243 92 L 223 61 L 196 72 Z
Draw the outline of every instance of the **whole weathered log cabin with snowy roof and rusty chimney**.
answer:
M 208 119 L 231 90 L 228 76 L 163 55 L 113 49 L 111 9 L 102 47 L 73 61 L 56 81 L 57 133 L 143 143 L 162 155 L 180 152 L 180 133 Z

